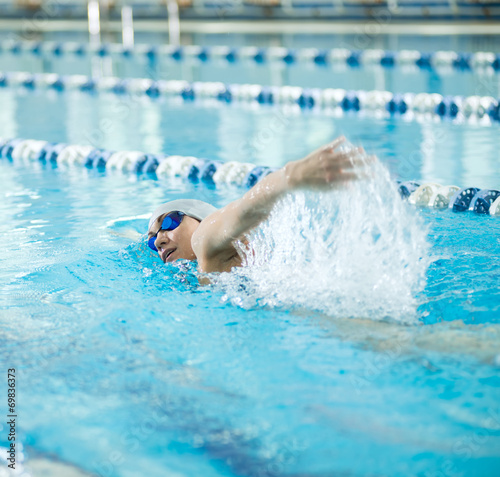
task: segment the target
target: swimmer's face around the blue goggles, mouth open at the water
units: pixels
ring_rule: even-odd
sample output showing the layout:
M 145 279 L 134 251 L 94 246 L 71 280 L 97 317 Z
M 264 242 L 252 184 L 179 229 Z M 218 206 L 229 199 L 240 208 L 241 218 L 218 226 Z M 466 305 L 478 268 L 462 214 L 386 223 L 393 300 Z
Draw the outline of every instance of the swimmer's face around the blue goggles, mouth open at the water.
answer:
M 154 232 L 161 227 L 163 219 L 167 214 L 160 215 L 151 226 L 148 238 L 154 235 Z M 164 263 L 174 262 L 180 258 L 186 260 L 196 260 L 196 255 L 191 247 L 191 237 L 198 228 L 200 222 L 185 215 L 179 227 L 174 230 L 160 230 L 156 236 L 155 246 L 158 249 L 158 255 Z

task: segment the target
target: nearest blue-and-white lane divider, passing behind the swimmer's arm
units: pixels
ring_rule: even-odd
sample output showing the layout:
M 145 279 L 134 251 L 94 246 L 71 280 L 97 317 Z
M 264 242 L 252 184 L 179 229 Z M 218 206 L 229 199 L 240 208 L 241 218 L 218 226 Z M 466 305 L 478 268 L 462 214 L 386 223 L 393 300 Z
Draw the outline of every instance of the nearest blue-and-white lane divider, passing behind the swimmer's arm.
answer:
M 146 154 L 140 151 L 108 151 L 92 146 L 51 143 L 34 139 L 1 139 L 0 158 L 19 162 L 54 163 L 100 171 L 150 174 L 156 178 L 178 177 L 187 182 L 249 189 L 276 168 L 251 163 L 213 161 L 193 156 Z M 473 211 L 500 216 L 500 191 L 414 181 L 398 183 L 403 199 L 419 207 Z

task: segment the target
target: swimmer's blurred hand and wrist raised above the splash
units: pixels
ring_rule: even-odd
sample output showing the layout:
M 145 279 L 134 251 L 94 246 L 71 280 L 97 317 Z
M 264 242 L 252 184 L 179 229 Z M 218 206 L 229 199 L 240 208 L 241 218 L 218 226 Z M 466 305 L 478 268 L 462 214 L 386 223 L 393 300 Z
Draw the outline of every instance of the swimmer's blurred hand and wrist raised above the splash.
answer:
M 363 148 L 342 149 L 344 136 L 316 149 L 304 159 L 289 162 L 285 167 L 291 190 L 331 189 L 364 176 L 363 168 L 373 158 L 366 158 Z

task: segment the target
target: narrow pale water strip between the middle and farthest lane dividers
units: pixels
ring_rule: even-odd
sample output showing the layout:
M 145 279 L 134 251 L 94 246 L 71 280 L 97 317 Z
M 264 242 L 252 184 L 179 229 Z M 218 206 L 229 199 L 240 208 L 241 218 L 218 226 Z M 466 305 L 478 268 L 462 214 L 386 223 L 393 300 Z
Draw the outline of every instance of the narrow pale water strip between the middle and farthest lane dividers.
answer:
M 494 45 L 496 46 L 496 45 Z M 337 43 L 330 48 L 356 50 L 351 43 Z M 424 51 L 422 46 L 414 46 Z M 489 50 L 488 50 L 489 51 Z M 498 51 L 496 47 L 495 52 Z M 115 75 L 124 78 L 178 79 L 188 81 L 220 81 L 223 83 L 255 83 L 263 85 L 294 85 L 307 88 L 344 88 L 347 90 L 388 90 L 394 93 L 439 93 L 442 95 L 493 96 L 500 94 L 498 72 L 485 69 L 460 71 L 453 68 L 420 69 L 418 67 L 382 68 L 370 65 L 365 68 L 345 65 L 318 66 L 295 62 L 238 60 L 229 63 L 211 59 L 176 61 L 164 57 L 147 58 L 136 54 L 130 58 L 114 55 L 113 58 L 91 58 L 74 53 L 33 55 L 30 52 L 0 55 L 2 71 L 55 72 L 62 75 Z

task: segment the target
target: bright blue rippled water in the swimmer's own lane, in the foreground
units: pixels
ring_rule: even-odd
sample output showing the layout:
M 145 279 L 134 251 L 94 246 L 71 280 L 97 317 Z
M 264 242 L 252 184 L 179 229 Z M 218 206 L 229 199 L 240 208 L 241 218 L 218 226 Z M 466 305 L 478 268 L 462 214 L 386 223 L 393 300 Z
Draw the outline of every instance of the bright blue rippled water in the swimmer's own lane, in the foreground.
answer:
M 6 161 L 0 172 L 1 360 L 18 370 L 28 464 L 47 455 L 101 476 L 496 475 L 498 221 L 421 213 L 433 263 L 403 325 L 252 294 L 242 307 L 241 290 L 228 300 L 192 267 L 117 235 L 144 219 L 109 222 L 174 195 L 221 206 L 239 191 Z

